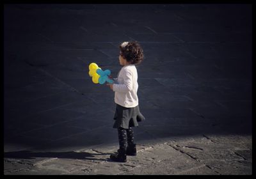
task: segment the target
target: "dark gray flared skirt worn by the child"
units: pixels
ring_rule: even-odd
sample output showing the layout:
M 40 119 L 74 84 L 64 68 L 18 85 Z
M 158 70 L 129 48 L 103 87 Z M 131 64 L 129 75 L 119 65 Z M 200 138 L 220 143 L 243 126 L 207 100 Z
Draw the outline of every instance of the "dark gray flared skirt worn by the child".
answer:
M 140 113 L 139 105 L 136 107 L 123 107 L 122 105 L 116 104 L 114 120 L 113 128 L 129 128 L 138 127 L 138 122 L 144 121 L 145 118 Z

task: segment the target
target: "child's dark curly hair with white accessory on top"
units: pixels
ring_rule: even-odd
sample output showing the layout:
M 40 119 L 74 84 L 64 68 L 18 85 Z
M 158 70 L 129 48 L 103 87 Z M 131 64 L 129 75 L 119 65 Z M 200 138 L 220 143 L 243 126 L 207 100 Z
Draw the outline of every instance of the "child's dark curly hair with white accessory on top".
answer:
M 123 42 L 119 45 L 120 55 L 131 62 L 131 64 L 138 64 L 143 61 L 144 54 L 140 44 L 136 41 Z

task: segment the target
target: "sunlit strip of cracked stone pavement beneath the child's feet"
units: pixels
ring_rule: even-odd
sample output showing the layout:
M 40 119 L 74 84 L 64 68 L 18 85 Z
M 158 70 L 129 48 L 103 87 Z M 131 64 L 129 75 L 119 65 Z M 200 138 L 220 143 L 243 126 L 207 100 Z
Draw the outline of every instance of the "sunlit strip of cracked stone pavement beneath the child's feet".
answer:
M 116 145 L 69 152 L 7 152 L 5 175 L 250 175 L 252 138 L 197 136 L 138 144 L 138 155 L 111 162 Z

